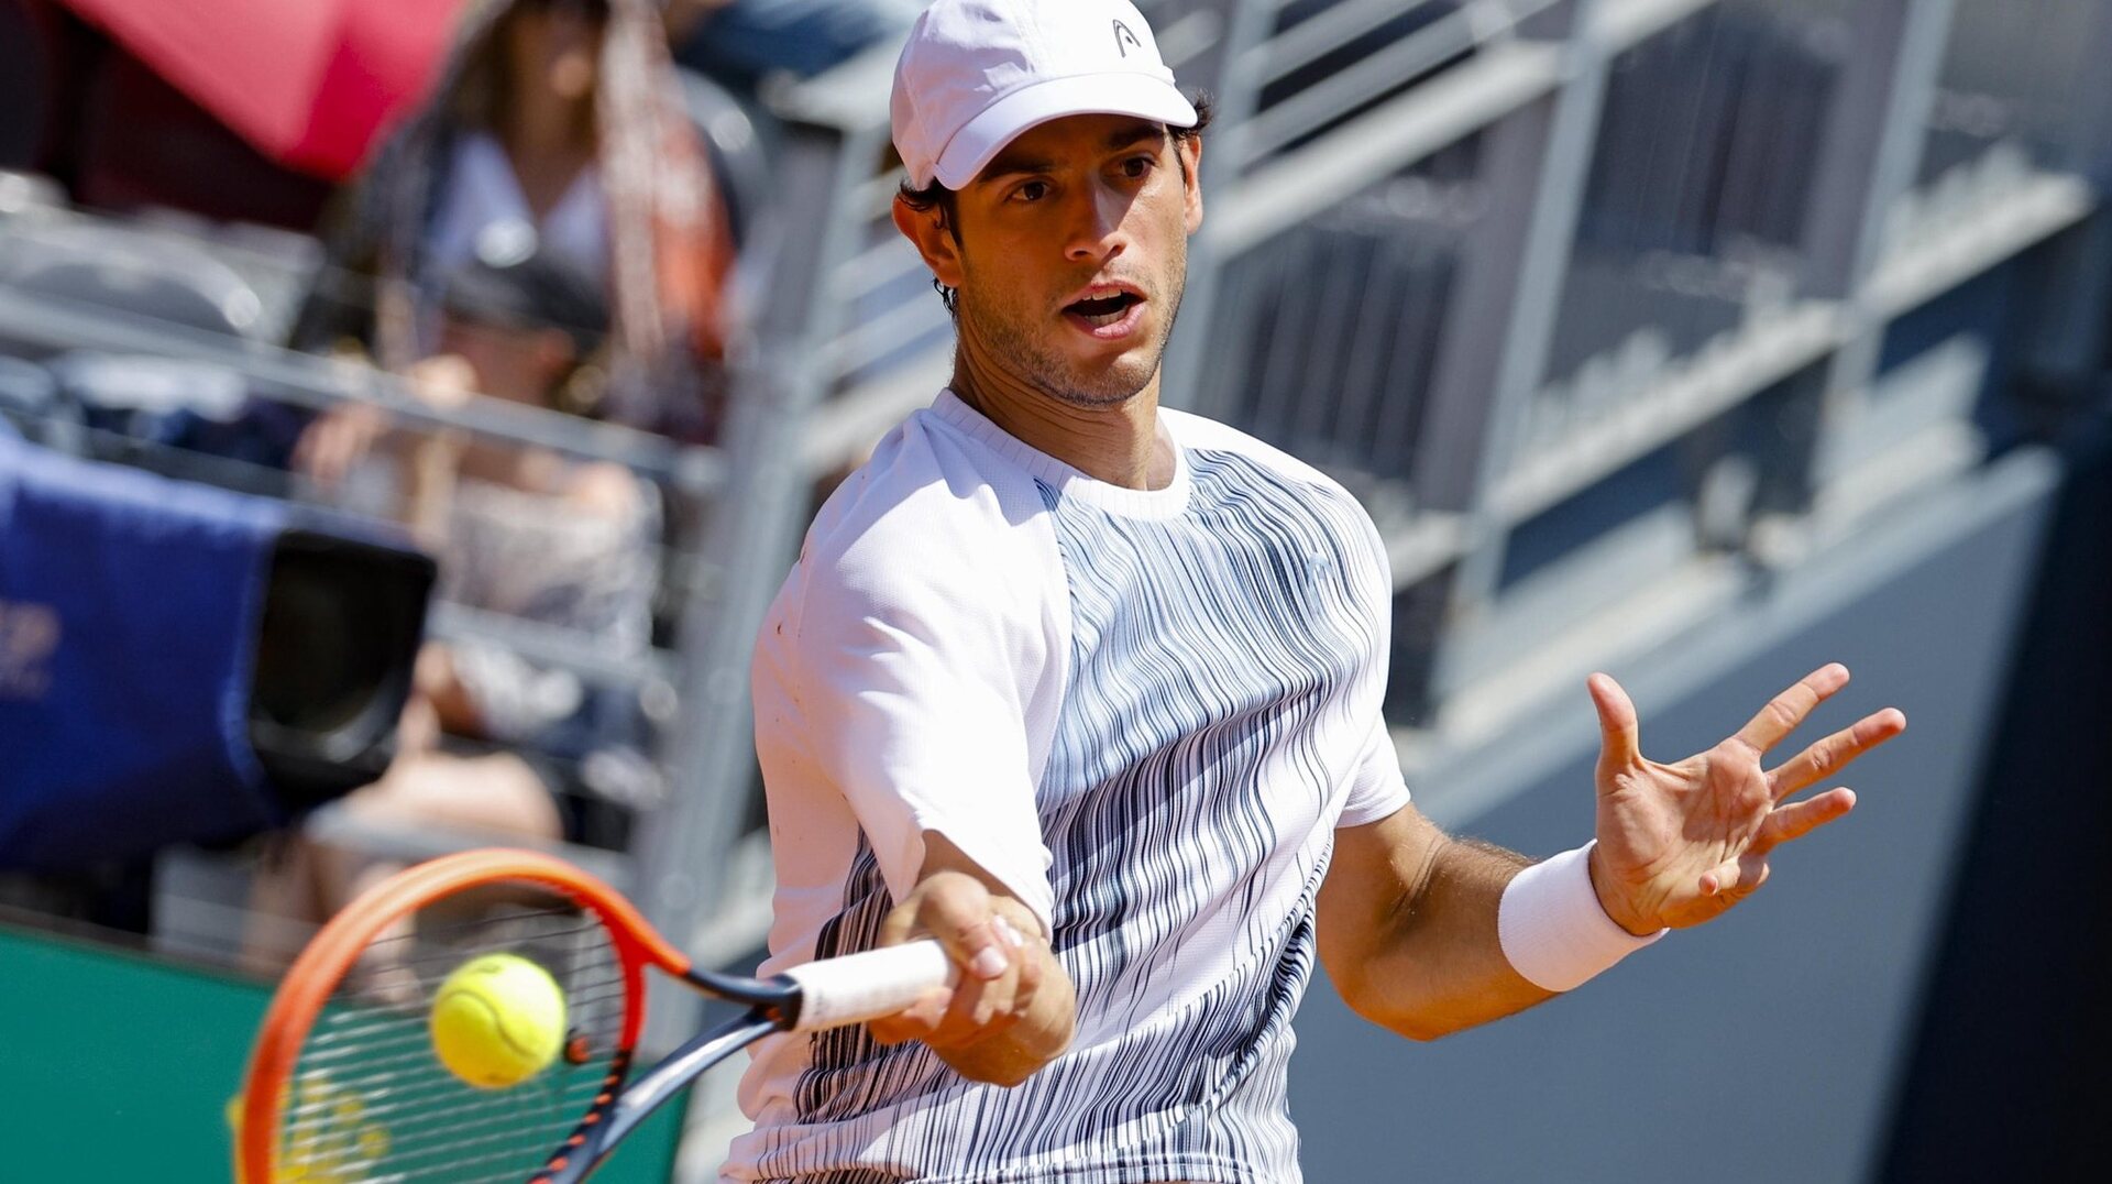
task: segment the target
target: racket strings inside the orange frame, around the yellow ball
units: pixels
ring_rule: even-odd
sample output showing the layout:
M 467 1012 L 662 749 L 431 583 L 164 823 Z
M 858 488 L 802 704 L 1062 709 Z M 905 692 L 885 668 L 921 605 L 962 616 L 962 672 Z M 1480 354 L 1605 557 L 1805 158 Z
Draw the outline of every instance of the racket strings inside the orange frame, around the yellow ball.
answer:
M 456 1078 L 429 1028 L 441 983 L 486 954 L 534 962 L 566 1002 L 564 1051 L 505 1089 Z M 281 1180 L 524 1180 L 608 1089 L 625 1006 L 606 926 L 558 894 L 509 884 L 482 909 L 406 918 L 344 973 L 300 1049 L 279 1118 Z

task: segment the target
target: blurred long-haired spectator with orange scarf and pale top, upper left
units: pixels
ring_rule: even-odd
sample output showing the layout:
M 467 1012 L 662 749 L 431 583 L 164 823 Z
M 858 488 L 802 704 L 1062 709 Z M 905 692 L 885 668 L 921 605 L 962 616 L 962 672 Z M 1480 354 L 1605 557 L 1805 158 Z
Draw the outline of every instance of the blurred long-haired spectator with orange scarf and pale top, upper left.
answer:
M 655 0 L 471 4 L 433 97 L 325 226 L 294 345 L 351 336 L 406 372 L 439 345 L 439 277 L 494 228 L 606 285 L 604 417 L 716 431 L 733 243 Z

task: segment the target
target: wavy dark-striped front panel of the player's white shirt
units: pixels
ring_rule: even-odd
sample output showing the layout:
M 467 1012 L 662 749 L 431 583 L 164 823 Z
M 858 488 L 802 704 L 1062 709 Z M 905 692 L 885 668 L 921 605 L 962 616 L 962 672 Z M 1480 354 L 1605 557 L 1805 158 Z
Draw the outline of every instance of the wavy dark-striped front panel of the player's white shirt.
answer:
M 921 1044 L 815 1034 L 798 1123 L 773 1131 L 762 1178 L 1299 1180 L 1290 1017 L 1375 710 L 1385 577 L 1337 486 L 1233 450 L 1187 459 L 1189 507 L 1166 520 L 1037 482 L 1073 628 L 1037 791 L 1073 1051 L 1005 1091 Z M 815 954 L 864 949 L 889 907 L 860 850 Z

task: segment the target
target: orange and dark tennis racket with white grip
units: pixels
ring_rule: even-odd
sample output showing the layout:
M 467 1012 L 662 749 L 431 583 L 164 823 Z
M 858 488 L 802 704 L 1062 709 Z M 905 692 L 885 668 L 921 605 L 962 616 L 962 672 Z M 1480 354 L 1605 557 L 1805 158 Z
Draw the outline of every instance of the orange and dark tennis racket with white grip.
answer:
M 564 992 L 562 1051 L 503 1089 L 454 1076 L 429 1032 L 435 989 L 488 954 L 526 958 Z M 634 1072 L 648 968 L 746 1011 Z M 435 858 L 359 896 L 287 970 L 249 1057 L 234 1178 L 570 1184 L 735 1051 L 773 1032 L 891 1015 L 950 981 L 936 941 L 771 979 L 714 975 L 560 858 L 526 850 Z

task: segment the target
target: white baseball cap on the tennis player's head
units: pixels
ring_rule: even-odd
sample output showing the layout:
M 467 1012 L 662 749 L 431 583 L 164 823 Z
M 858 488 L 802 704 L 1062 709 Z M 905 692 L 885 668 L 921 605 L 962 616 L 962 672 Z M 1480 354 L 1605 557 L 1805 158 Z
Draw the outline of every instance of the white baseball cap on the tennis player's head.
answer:
M 1069 114 L 1195 127 L 1130 0 L 938 0 L 902 47 L 891 110 L 917 188 L 961 188 L 1016 135 Z

